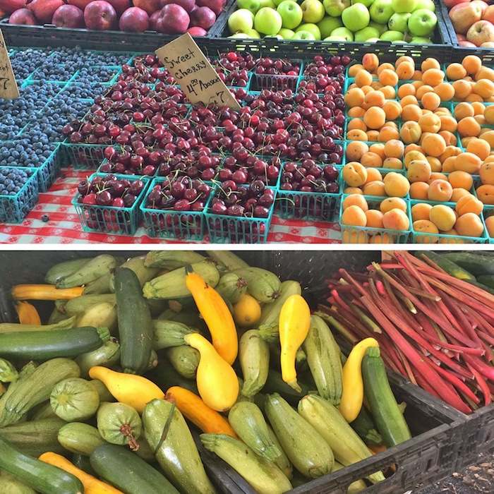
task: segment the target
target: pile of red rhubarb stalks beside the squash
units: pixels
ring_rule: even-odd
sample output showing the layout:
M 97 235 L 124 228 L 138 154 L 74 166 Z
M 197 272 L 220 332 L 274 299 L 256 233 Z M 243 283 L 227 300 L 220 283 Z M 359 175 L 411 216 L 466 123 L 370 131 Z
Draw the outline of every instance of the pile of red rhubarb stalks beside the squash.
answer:
M 442 255 L 394 251 L 367 272 L 340 269 L 319 313 L 351 344 L 377 339 L 390 369 L 469 414 L 494 393 L 494 292 L 440 267 Z

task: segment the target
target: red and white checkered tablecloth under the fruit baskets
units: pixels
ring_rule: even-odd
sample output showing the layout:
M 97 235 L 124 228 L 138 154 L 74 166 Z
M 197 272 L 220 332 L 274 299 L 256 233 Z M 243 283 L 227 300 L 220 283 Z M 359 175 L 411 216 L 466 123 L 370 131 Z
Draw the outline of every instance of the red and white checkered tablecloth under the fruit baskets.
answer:
M 0 243 L 181 243 L 150 237 L 141 226 L 134 236 L 90 233 L 83 230 L 71 200 L 77 184 L 90 172 L 62 169 L 61 175 L 21 224 L 0 224 Z M 42 217 L 49 217 L 47 222 Z M 268 243 L 341 243 L 339 224 L 272 217 Z M 203 243 L 208 243 L 205 236 Z

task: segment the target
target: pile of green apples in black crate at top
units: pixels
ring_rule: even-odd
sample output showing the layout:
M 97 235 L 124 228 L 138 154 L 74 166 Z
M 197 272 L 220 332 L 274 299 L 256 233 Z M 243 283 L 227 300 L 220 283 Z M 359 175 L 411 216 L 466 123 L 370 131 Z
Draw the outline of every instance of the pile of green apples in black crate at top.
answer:
M 432 0 L 236 0 L 236 7 L 227 20 L 229 37 L 438 42 L 438 17 Z

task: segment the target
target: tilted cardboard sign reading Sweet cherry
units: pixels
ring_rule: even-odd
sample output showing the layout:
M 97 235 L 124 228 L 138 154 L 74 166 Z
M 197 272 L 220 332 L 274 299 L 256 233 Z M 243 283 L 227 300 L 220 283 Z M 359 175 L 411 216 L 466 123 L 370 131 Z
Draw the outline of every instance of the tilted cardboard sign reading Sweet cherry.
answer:
M 239 102 L 188 32 L 155 53 L 192 104 L 213 103 L 219 107 L 240 109 Z

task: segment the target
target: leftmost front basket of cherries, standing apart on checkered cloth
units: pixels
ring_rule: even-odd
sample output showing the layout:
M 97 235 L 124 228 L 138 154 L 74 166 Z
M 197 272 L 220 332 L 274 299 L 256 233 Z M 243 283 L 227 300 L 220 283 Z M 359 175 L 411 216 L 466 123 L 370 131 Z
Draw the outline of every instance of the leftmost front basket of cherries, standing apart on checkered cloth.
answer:
M 149 179 L 93 174 L 80 181 L 72 200 L 84 231 L 133 235 L 143 221 L 139 205 Z

